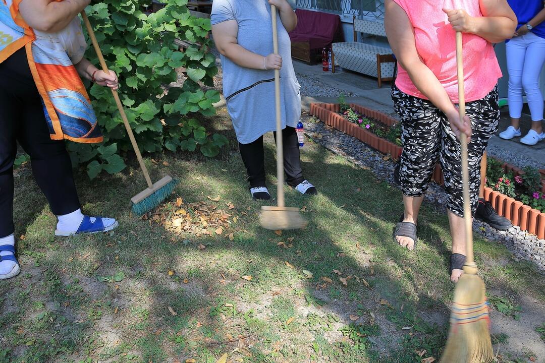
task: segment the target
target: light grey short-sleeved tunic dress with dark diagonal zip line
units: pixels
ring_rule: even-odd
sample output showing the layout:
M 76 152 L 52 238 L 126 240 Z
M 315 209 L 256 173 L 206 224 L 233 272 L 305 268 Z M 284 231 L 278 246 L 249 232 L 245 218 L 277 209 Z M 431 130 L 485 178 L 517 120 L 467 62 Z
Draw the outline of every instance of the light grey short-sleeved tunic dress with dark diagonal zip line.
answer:
M 271 8 L 267 0 L 214 0 L 211 23 L 238 23 L 238 44 L 253 53 L 273 53 Z M 301 86 L 292 64 L 291 42 L 280 16 L 278 51 L 282 57 L 280 99 L 282 128 L 295 127 L 301 116 Z M 264 133 L 276 130 L 274 71 L 241 67 L 221 56 L 223 95 L 237 139 L 249 144 Z

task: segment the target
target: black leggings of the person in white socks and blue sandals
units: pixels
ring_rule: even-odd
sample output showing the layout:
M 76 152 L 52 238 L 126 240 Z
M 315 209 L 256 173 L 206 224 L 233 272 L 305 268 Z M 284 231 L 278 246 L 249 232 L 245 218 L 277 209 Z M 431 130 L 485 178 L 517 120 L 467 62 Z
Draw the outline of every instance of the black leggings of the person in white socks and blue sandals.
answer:
M 0 63 L 0 238 L 13 224 L 13 163 L 17 141 L 31 157 L 32 171 L 56 215 L 80 208 L 70 157 L 63 140 L 51 140 L 25 49 Z

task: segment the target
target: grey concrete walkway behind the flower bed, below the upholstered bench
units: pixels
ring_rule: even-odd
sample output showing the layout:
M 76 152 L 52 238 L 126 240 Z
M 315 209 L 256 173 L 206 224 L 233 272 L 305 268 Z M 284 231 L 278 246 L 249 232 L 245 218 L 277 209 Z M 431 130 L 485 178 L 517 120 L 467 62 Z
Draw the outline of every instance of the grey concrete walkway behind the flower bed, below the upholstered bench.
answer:
M 297 61 L 294 61 L 294 68 L 295 72 L 300 75 L 312 77 L 318 82 L 354 94 L 355 96 L 346 97 L 348 103 L 358 103 L 361 106 L 370 107 L 397 118 L 390 97 L 391 84 L 389 82 L 383 83 L 383 87 L 379 89 L 377 88 L 376 78 L 366 77 L 358 73 L 339 70 L 334 74 L 322 71 L 321 65 L 311 66 Z M 312 102 L 336 103 L 337 97 L 302 95 L 301 106 L 303 109 L 308 110 Z M 531 124 L 526 107 L 525 112 L 520 126 L 523 135 L 528 132 Z M 505 130 L 508 125 L 510 125 L 508 109 L 507 107 L 503 107 L 501 109 L 499 130 Z M 490 139 L 489 153 L 518 167 L 534 165 L 539 169 L 545 169 L 545 141 L 541 141 L 535 146 L 528 146 L 521 144 L 519 138 L 503 140 L 496 135 Z

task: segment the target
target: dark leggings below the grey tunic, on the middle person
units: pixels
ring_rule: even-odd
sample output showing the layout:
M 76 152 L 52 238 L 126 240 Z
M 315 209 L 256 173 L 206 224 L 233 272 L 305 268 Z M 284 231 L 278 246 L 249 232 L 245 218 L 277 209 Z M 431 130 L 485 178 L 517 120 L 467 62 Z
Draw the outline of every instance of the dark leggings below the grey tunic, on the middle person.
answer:
M 276 133 L 275 133 L 276 138 Z M 296 187 L 303 179 L 301 161 L 299 159 L 299 140 L 294 127 L 286 126 L 282 130 L 282 142 L 284 150 L 284 171 L 286 172 L 286 182 Z M 263 136 L 250 144 L 240 144 L 240 155 L 248 173 L 250 187 L 265 186 L 265 161 L 263 152 Z

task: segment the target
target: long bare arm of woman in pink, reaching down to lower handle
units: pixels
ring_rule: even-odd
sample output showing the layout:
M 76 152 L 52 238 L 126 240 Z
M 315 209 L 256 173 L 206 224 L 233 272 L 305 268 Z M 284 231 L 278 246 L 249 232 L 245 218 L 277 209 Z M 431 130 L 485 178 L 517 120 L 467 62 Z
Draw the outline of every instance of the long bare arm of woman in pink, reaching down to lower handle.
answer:
M 385 2 L 386 14 L 384 17 L 384 26 L 393 54 L 395 54 L 399 65 L 407 71 L 411 81 L 416 88 L 431 101 L 435 107 L 439 108 L 451 122 L 452 131 L 459 136 L 460 132 L 470 135 L 471 128 L 469 119 L 461 122 L 458 110 L 450 100 L 445 88 L 420 59 L 416 51 L 414 30 L 409 21 L 407 13 L 399 7 L 393 0 Z

